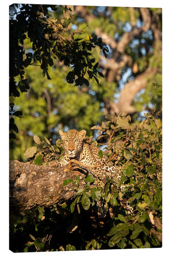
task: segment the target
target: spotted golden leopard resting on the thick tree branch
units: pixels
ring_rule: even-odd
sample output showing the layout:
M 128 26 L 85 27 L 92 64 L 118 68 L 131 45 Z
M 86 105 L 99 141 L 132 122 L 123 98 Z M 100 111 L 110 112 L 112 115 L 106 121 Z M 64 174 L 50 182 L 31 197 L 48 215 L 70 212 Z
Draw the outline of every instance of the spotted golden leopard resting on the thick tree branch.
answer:
M 98 187 L 101 186 L 104 188 L 107 181 L 106 177 L 112 179 L 113 181 L 116 180 L 116 182 L 120 180 L 121 170 L 117 169 L 114 165 L 108 165 L 108 157 L 105 154 L 100 157 L 100 148 L 94 143 L 89 143 L 85 140 L 85 130 L 80 132 L 75 129 L 67 132 L 59 131 L 59 134 L 64 145 L 64 156 L 59 162 L 57 162 L 58 166 L 67 166 L 72 159 L 83 163 L 85 166 L 90 167 L 92 175 L 98 182 Z M 50 166 L 54 167 L 55 165 L 52 163 Z M 120 187 L 120 189 L 123 188 L 124 185 Z M 126 206 L 130 214 L 132 209 L 129 209 L 129 207 Z

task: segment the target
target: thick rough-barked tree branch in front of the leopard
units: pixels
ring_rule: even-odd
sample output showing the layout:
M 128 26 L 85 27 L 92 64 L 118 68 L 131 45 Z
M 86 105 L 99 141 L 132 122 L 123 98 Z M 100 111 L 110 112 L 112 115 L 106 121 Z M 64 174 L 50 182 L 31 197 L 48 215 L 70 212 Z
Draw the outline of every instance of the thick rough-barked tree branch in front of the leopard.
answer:
M 81 173 L 68 167 L 54 168 L 19 161 L 10 161 L 10 209 L 23 211 L 35 206 L 51 206 L 74 198 L 71 183 Z M 81 174 L 82 176 L 84 174 Z M 85 175 L 84 175 L 85 176 Z

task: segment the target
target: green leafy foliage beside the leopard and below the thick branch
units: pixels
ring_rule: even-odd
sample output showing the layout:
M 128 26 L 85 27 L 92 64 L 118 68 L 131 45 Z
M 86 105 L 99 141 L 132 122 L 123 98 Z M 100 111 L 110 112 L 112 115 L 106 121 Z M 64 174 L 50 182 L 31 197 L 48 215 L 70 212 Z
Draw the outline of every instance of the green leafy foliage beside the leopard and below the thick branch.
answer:
M 63 186 L 74 184 L 76 198 L 53 208 L 39 207 L 20 217 L 15 216 L 10 226 L 11 249 L 46 251 L 160 247 L 162 127 L 156 113 L 145 114 L 145 117 L 136 125 L 131 122 L 130 116 L 107 115 L 105 128 L 102 124 L 95 129 L 103 129 L 98 141 L 101 136 L 110 139 L 103 154 L 107 154 L 114 166 L 122 170 L 120 180 L 106 177 L 104 187 L 96 187 L 91 175 L 83 180 L 83 187 L 80 187 L 80 175 L 76 180 L 65 180 Z M 37 136 L 34 140 L 42 147 L 39 154 L 46 161 L 43 152 L 46 148 L 53 152 L 55 145 L 52 147 L 48 140 L 41 142 Z M 46 143 L 45 148 L 43 143 Z M 57 141 L 55 146 L 62 152 L 59 145 L 62 141 Z M 99 212 L 107 212 L 107 215 L 98 218 Z M 14 216 L 11 215 L 11 218 Z M 70 238 L 65 230 L 75 218 L 80 222 L 75 224 L 78 227 L 72 231 Z M 157 222 L 154 222 L 156 219 Z M 21 245 L 16 246 L 14 241 L 21 232 L 25 236 Z M 45 238 L 48 241 L 49 236 L 52 239 L 47 243 Z

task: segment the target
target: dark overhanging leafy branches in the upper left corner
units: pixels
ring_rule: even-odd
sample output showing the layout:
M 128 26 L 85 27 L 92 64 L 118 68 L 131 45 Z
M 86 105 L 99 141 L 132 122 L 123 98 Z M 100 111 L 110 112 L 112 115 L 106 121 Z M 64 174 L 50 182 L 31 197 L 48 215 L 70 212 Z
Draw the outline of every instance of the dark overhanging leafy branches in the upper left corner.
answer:
M 73 6 L 60 7 L 64 19 L 61 19 L 61 15 L 58 19 L 52 18 L 48 8 L 57 10 L 57 6 L 54 5 L 10 6 L 10 96 L 19 97 L 20 92 L 27 92 L 30 89 L 28 79 L 25 78 L 25 69 L 30 65 L 40 66 L 43 76 L 46 75 L 47 79 L 51 79 L 48 67 L 54 66 L 56 58 L 63 61 L 65 66 L 72 68 L 73 71 L 68 72 L 66 81 L 75 83 L 75 86 L 83 84 L 89 86 L 89 81 L 84 77 L 86 73 L 89 79 L 94 77 L 98 83 L 97 74 L 103 76 L 97 70 L 99 62 L 94 64 L 95 58 L 91 58 L 91 49 L 96 46 L 101 48 L 105 56 L 109 52 L 102 38 L 96 35 L 89 37 L 90 40 L 74 38 L 75 32 L 71 30 L 71 23 L 66 25 L 66 20 L 70 19 L 70 14 L 73 12 Z M 17 9 L 19 10 L 16 11 Z M 26 38 L 32 43 L 29 52 L 24 48 Z M 16 81 L 15 77 L 18 76 L 20 80 Z M 15 135 L 11 133 L 10 138 L 14 139 Z

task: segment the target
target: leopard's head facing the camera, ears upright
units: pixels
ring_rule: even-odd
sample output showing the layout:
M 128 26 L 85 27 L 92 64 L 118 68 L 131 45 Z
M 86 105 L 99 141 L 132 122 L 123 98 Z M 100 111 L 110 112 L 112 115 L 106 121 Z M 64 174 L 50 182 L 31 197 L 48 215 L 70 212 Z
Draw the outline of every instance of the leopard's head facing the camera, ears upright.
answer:
M 69 158 L 75 158 L 82 151 L 86 131 L 82 130 L 78 132 L 76 130 L 69 130 L 66 133 L 59 131 L 59 134 L 64 142 L 66 154 Z

